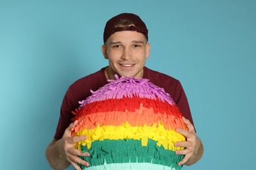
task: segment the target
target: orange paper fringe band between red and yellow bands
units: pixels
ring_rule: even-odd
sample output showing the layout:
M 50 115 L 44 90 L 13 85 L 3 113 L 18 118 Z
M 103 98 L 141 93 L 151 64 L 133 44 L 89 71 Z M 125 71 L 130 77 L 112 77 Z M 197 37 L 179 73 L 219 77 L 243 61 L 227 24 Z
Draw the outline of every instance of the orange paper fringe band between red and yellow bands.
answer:
M 163 124 L 167 130 L 176 130 L 177 128 L 186 129 L 186 125 L 181 118 L 170 116 L 168 114 L 152 114 L 152 112 L 98 112 L 78 118 L 78 124 L 72 129 L 72 135 L 77 131 L 95 129 L 99 124 L 101 126 L 122 126 L 128 122 L 131 126 L 153 126 L 153 124 Z

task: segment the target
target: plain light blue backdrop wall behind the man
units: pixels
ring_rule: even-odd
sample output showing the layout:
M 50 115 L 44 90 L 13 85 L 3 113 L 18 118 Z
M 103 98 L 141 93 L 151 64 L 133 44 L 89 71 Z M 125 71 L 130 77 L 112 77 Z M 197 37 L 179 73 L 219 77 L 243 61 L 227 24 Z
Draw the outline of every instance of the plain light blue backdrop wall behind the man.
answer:
M 182 82 L 205 147 L 184 169 L 256 169 L 253 0 L 0 1 L 0 169 L 51 169 L 62 97 L 108 64 L 102 33 L 121 12 L 148 26 L 146 65 Z

